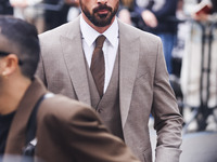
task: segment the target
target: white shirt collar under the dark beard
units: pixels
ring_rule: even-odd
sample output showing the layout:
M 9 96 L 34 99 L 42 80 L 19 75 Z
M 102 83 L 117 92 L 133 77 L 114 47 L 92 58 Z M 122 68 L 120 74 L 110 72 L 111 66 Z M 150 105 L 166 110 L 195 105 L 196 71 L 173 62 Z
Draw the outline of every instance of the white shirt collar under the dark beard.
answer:
M 87 44 L 90 46 L 94 42 L 94 40 L 100 36 L 101 33 L 94 30 L 91 26 L 89 26 L 82 16 L 80 16 L 80 30 L 82 33 L 82 39 L 86 40 Z M 115 21 L 110 26 L 107 30 L 105 30 L 102 35 L 106 37 L 108 42 L 114 46 L 116 43 L 116 40 L 118 38 L 118 24 L 117 18 L 115 17 Z

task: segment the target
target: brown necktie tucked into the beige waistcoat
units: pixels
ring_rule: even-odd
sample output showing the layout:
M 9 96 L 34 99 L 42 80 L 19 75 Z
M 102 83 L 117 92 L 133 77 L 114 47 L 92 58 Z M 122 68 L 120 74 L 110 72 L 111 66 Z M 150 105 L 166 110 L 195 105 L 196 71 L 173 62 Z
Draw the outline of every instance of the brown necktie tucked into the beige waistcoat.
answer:
M 94 79 L 101 98 L 103 96 L 104 78 L 105 78 L 105 64 L 102 51 L 104 41 L 105 37 L 103 35 L 99 36 L 95 39 L 95 49 L 92 54 L 92 60 L 90 66 L 90 70 L 92 72 L 92 77 Z

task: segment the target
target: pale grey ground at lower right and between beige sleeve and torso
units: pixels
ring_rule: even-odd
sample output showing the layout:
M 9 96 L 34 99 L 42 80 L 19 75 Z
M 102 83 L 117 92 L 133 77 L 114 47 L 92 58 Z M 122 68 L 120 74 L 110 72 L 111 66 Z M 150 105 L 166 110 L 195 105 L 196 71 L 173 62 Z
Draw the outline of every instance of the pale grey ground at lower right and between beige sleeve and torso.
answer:
M 209 121 L 204 132 L 193 132 L 195 123 L 192 122 L 192 133 L 183 134 L 181 145 L 182 153 L 180 162 L 217 162 L 217 125 L 214 120 Z M 150 120 L 150 135 L 153 149 L 153 161 L 155 157 L 156 133 L 153 121 Z

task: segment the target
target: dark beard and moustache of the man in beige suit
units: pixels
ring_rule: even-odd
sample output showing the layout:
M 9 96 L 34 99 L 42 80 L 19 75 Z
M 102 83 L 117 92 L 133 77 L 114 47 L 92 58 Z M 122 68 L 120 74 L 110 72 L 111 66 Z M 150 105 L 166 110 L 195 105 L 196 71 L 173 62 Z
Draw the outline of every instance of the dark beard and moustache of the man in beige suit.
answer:
M 107 26 L 107 25 L 110 25 L 112 23 L 113 17 L 117 13 L 118 5 L 119 5 L 119 3 L 117 2 L 117 4 L 115 5 L 114 11 L 112 10 L 111 6 L 107 6 L 106 4 L 99 5 L 98 8 L 93 9 L 93 13 L 91 15 L 90 12 L 88 11 L 88 9 L 85 5 L 82 5 L 82 3 L 80 2 L 80 6 L 81 6 L 81 10 L 85 13 L 85 15 L 88 17 L 88 19 L 94 26 L 98 26 L 98 27 L 105 27 L 105 26 Z M 107 14 L 99 15 L 97 13 L 99 10 L 107 10 L 110 12 Z

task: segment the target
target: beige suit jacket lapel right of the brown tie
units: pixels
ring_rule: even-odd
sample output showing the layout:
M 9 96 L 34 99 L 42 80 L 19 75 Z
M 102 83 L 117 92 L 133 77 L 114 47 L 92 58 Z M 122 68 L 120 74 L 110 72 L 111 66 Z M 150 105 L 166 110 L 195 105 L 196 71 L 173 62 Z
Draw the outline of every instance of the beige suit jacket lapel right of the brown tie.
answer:
M 129 112 L 139 62 L 139 38 L 128 33 L 129 30 L 119 22 L 119 99 L 123 129 Z

